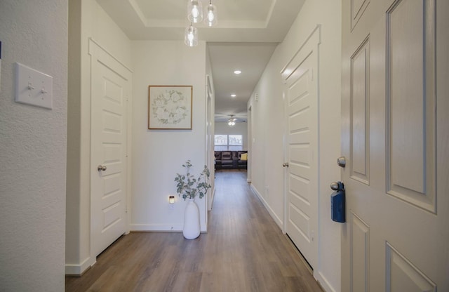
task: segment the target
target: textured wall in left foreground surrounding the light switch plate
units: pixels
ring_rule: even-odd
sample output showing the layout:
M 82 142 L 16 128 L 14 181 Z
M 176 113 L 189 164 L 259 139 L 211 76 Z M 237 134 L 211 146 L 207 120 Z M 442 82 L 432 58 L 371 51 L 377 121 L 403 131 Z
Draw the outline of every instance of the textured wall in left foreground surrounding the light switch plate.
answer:
M 64 291 L 67 1 L 0 1 L 0 291 Z M 14 102 L 14 63 L 53 77 L 53 110 Z

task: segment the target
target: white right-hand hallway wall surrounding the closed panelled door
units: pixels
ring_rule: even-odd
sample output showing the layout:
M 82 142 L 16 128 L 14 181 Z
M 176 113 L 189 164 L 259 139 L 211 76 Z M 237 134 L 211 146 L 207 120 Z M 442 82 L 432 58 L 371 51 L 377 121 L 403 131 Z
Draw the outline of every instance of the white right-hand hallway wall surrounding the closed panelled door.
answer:
M 253 143 L 252 187 L 262 196 L 276 222 L 283 223 L 283 97 L 279 72 L 321 25 L 319 46 L 319 263 L 316 277 L 326 291 L 340 291 L 340 225 L 330 220 L 329 185 L 340 180 L 341 4 L 307 0 L 284 41 L 276 48 L 248 105 Z M 272 117 L 267 123 L 263 117 Z M 267 191 L 267 188 L 268 191 Z

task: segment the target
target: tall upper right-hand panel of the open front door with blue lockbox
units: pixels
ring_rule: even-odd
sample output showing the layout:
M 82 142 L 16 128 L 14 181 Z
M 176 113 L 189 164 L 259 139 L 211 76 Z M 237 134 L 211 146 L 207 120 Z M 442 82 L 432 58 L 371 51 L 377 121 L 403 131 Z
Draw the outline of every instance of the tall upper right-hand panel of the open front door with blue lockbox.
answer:
M 424 6 L 420 1 L 401 1 L 387 13 L 387 190 L 432 213 L 436 212 L 434 9 L 433 1 L 424 1 Z M 422 39 L 425 46 L 413 46 L 422 44 Z

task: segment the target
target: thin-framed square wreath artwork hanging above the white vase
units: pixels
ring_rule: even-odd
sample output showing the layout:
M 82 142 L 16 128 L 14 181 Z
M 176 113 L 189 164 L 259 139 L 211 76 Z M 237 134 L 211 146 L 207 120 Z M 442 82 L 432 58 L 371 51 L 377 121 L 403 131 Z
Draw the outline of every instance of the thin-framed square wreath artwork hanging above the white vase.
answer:
M 148 86 L 149 130 L 192 130 L 191 85 Z

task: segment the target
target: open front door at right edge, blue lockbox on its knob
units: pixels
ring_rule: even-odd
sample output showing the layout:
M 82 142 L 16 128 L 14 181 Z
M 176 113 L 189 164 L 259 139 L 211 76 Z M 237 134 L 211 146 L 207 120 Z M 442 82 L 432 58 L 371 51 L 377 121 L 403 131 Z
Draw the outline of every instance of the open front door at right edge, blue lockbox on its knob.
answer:
M 449 291 L 448 15 L 343 1 L 342 291 Z

